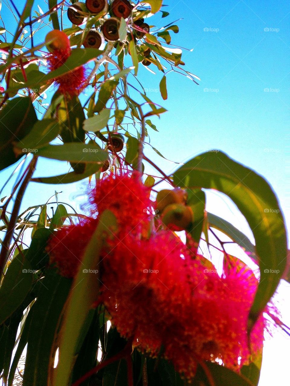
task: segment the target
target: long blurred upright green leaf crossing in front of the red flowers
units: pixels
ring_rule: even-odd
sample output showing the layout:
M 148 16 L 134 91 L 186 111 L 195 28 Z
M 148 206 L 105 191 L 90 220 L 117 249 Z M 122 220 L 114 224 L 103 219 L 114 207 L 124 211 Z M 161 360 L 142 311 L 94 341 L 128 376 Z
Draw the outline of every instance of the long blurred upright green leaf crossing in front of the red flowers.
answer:
M 57 343 L 59 347 L 58 366 L 54 370 L 53 379 L 49 380 L 51 386 L 67 386 L 69 383 L 83 323 L 85 323 L 92 304 L 99 296 L 95 273 L 88 272 L 96 271 L 99 268 L 99 256 L 103 242 L 115 229 L 114 215 L 109 211 L 103 212 L 99 225 L 86 247 L 83 264 L 71 286 Z

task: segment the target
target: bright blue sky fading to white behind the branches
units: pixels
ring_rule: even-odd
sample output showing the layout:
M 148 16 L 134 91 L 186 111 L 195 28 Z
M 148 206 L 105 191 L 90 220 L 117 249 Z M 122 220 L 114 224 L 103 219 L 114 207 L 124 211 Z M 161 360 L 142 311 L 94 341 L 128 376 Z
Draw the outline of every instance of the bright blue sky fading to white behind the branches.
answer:
M 2 1 L 1 15 L 8 20 L 11 14 L 5 3 L 6 0 Z M 24 4 L 17 1 L 19 7 L 20 3 Z M 197 86 L 180 74 L 170 73 L 168 100 L 163 101 L 156 91 L 161 74 L 154 76 L 141 66 L 140 80 L 151 90 L 148 97 L 168 109 L 160 120 L 153 119 L 159 133 L 150 131 L 151 143 L 166 158 L 178 162 L 209 149 L 226 152 L 271 183 L 285 216 L 289 216 L 289 2 L 165 0 L 165 3 L 168 6 L 164 10 L 170 12 L 170 16 L 166 19 L 154 17 L 149 24 L 154 22 L 161 26 L 182 18 L 177 22 L 180 33 L 173 34 L 172 42 L 193 49 L 183 52 L 183 61 L 186 69 L 201 81 Z M 35 2 L 36 10 L 37 4 L 46 12 L 47 6 L 42 0 Z M 166 173 L 176 167 L 148 147 L 145 152 Z M 50 170 L 53 170 L 51 174 L 61 174 L 67 167 L 65 163 L 42 160 L 37 175 L 49 175 Z M 5 178 L 8 171 L 0 176 Z M 24 207 L 45 202 L 54 195 L 54 190 L 63 191 L 60 200 L 73 200 L 80 186 L 83 185 L 32 183 Z M 209 200 L 212 212 L 248 232 L 231 203 L 222 205 L 224 198 L 213 195 L 209 195 Z M 284 284 L 281 293 L 282 297 L 289 296 L 289 286 Z M 286 303 L 282 308 L 289 324 Z M 289 349 L 290 341 L 281 334 L 267 340 L 259 386 L 285 384 Z

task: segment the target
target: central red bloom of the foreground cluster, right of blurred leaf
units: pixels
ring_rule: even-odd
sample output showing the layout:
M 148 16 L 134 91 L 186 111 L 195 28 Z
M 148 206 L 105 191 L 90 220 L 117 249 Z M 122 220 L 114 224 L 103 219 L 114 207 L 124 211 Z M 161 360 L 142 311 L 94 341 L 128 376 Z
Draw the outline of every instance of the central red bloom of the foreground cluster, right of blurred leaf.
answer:
M 112 321 L 120 335 L 152 356 L 190 296 L 182 285 L 187 281 L 184 254 L 184 244 L 165 231 L 149 240 L 127 235 L 103 259 L 102 296 Z

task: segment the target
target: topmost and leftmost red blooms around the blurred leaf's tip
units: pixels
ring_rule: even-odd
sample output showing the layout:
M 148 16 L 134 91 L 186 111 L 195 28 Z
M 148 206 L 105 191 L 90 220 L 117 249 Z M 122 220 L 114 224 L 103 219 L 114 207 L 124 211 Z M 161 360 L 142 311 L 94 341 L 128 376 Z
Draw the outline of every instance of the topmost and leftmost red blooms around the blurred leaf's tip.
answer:
M 142 184 L 137 172 L 103 178 L 90 196 L 92 203 L 97 204 L 95 209 L 98 216 L 61 228 L 47 245 L 50 263 L 59 269 L 61 275 L 68 278 L 76 275 L 85 247 L 97 227 L 98 218 L 106 209 L 116 216 L 119 234 L 131 232 L 136 235 L 141 232 L 142 225 L 149 225 L 148 208 L 152 205 L 149 189 Z

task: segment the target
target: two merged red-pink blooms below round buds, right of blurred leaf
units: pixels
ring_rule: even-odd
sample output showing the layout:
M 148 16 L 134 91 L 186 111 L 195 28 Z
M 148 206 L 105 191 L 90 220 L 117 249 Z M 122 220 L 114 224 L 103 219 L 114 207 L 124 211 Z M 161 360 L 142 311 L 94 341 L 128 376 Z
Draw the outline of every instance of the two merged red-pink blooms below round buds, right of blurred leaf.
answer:
M 170 231 L 149 240 L 116 240 L 103 261 L 103 301 L 119 333 L 166 359 L 186 378 L 202 360 L 239 371 L 263 347 L 261 315 L 250 339 L 249 311 L 258 280 L 242 262 L 221 278 Z M 267 309 L 265 310 L 265 312 Z

